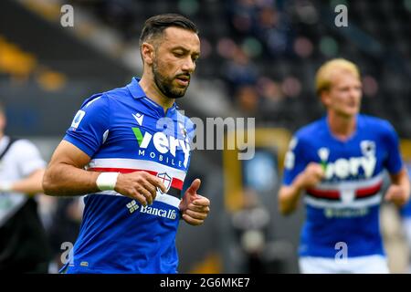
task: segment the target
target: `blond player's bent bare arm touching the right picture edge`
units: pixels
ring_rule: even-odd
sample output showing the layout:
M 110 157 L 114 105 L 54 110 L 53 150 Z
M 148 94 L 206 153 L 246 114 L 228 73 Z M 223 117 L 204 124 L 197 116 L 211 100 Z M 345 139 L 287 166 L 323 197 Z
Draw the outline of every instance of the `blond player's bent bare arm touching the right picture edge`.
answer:
M 406 168 L 404 167 L 400 172 L 396 174 L 390 174 L 391 185 L 385 194 L 385 200 L 395 203 L 400 207 L 409 200 L 410 196 L 410 183 Z

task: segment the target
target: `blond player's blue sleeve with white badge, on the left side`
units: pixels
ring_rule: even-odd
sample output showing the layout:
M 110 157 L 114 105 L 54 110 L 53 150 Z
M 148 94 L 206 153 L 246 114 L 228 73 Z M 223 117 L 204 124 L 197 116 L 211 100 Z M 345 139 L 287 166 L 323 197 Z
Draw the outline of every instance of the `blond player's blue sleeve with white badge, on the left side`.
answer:
M 290 185 L 300 172 L 304 171 L 307 162 L 304 157 L 304 141 L 294 136 L 284 159 L 284 173 L 282 183 Z

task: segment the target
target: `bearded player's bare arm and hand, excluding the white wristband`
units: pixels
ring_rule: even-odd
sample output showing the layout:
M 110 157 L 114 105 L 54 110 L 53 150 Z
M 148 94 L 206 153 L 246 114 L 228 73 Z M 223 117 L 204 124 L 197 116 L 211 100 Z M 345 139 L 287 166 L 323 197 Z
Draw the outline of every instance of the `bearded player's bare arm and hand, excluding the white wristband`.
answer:
M 43 178 L 44 192 L 49 195 L 73 196 L 98 193 L 97 178 L 101 172 L 88 172 L 84 166 L 90 156 L 68 141 L 61 141 L 51 157 Z M 158 177 L 147 172 L 120 173 L 114 191 L 146 205 L 153 203 L 157 187 L 165 192 Z

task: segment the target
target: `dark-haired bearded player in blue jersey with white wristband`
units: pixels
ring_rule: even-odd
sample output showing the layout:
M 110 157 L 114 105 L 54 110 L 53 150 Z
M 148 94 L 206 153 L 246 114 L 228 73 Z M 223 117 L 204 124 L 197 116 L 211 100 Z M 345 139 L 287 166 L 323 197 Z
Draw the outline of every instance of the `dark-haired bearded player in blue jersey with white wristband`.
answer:
M 87 194 L 63 273 L 176 273 L 179 219 L 202 224 L 209 212 L 200 180 L 181 195 L 194 125 L 174 102 L 200 55 L 197 28 L 153 16 L 140 41 L 142 78 L 86 99 L 44 176 L 47 194 Z

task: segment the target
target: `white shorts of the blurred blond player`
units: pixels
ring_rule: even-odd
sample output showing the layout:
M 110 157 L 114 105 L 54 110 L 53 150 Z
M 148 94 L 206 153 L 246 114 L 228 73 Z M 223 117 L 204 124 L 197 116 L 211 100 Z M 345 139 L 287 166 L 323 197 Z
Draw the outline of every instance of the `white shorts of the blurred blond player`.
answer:
M 330 257 L 301 256 L 302 274 L 389 274 L 383 255 L 366 255 L 334 259 Z

